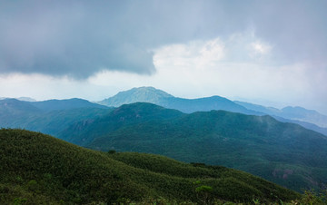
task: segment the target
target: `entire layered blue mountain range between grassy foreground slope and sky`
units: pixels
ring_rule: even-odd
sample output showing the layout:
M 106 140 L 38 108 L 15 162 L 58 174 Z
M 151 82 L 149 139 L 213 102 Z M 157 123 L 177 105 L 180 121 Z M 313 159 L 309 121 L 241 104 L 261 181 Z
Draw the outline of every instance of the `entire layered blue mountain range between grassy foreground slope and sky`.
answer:
M 141 94 L 144 91 L 152 95 Z M 157 91 L 143 87 L 129 92 L 138 92 L 145 100 L 146 96 L 153 96 L 157 102 L 161 99 L 158 96 L 174 98 Z M 124 102 L 137 100 L 138 95 L 132 93 L 123 93 Z M 117 99 L 115 106 L 119 101 L 123 103 Z M 293 120 L 264 115 L 263 109 L 278 112 L 277 109 L 260 106 L 262 110 L 253 111 L 249 104 L 241 105 L 222 97 L 179 99 L 170 104 L 178 104 L 173 102 L 181 102 L 180 106 L 185 102 L 182 107 L 189 111 L 208 108 L 213 111 L 181 112 L 146 102 L 109 108 L 83 99 L 45 102 L 5 99 L 0 101 L 0 127 L 45 132 L 94 150 L 151 152 L 180 161 L 223 165 L 293 190 L 323 189 L 326 185 L 326 136 L 289 123 Z M 323 128 L 309 122 L 298 123 L 323 132 Z

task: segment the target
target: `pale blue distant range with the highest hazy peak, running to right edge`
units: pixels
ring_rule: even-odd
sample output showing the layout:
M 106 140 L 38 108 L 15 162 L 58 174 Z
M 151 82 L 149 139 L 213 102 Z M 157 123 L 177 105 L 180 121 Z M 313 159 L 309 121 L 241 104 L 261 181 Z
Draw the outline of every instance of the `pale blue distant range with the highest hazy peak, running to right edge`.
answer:
M 252 115 L 271 115 L 278 121 L 292 122 L 327 135 L 327 116 L 302 107 L 285 107 L 282 110 L 250 102 L 231 101 L 220 96 L 197 99 L 177 98 L 154 87 L 139 87 L 115 94 L 100 104 L 118 107 L 133 102 L 150 102 L 165 108 L 191 113 L 199 111 L 223 110 Z

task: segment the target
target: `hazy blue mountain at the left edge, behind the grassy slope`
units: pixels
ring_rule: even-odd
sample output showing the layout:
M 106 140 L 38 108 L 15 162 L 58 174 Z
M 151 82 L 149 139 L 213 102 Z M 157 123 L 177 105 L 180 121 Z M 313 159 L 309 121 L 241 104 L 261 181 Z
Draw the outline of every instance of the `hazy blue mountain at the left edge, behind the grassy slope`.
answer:
M 22 128 L 56 135 L 74 122 L 94 119 L 111 110 L 81 99 L 24 102 L 0 100 L 0 128 Z

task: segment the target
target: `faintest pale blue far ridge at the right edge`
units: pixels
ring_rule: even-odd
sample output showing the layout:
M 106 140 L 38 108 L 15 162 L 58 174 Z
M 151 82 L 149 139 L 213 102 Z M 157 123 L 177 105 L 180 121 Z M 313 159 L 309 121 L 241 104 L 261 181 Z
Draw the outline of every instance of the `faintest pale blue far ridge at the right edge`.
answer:
M 297 121 L 296 123 L 299 122 L 299 124 L 301 124 L 301 122 L 309 122 L 309 123 L 313 123 L 313 124 L 316 124 L 316 125 L 322 127 L 322 129 L 327 128 L 327 116 L 323 115 L 322 113 L 312 111 L 312 110 L 307 110 L 302 107 L 288 106 L 288 107 L 282 108 L 282 110 L 279 110 L 277 108 L 264 107 L 262 105 L 253 104 L 253 103 L 249 103 L 249 102 L 239 102 L 239 101 L 235 101 L 235 102 L 249 110 L 253 110 L 253 111 L 257 111 L 257 112 L 264 112 L 264 113 L 267 113 L 272 116 L 278 116 L 278 117 L 282 117 L 285 119 L 290 119 L 290 120 L 293 120 L 293 122 L 296 122 L 296 121 Z M 303 124 L 305 124 L 305 123 L 302 123 L 302 125 Z M 308 125 L 309 125 L 309 126 L 307 126 L 308 128 L 310 126 L 312 126 L 310 124 L 308 124 Z

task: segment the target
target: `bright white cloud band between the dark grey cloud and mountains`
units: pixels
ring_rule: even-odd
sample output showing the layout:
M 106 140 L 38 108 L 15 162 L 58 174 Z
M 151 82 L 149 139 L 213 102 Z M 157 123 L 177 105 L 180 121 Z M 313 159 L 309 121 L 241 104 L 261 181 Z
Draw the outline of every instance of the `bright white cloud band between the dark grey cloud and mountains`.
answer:
M 253 102 L 264 99 L 327 112 L 327 73 L 312 72 L 308 64 L 301 62 L 277 65 L 271 60 L 273 52 L 271 44 L 247 33 L 168 44 L 154 50 L 157 72 L 153 75 L 103 71 L 86 81 L 40 74 L 4 75 L 0 76 L 0 97 L 81 97 L 99 101 L 122 90 L 154 86 L 178 97 L 221 95 Z M 255 53 L 257 56 L 251 56 Z

